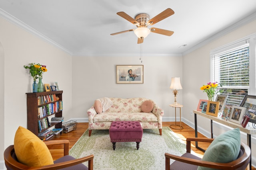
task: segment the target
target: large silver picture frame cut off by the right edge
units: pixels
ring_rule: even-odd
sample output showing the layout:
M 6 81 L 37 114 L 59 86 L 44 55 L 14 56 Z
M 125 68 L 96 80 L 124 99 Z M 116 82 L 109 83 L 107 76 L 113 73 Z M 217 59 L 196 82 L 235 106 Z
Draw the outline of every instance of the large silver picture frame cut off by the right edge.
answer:
M 245 95 L 240 106 L 246 108 L 245 115 L 250 117 L 249 122 L 256 123 L 256 96 Z

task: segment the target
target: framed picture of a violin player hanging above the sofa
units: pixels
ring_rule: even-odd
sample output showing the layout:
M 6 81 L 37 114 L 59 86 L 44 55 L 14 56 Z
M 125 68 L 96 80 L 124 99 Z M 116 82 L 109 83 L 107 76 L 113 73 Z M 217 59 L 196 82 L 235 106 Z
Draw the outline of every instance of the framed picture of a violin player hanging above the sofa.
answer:
M 144 82 L 143 65 L 116 65 L 116 83 L 132 84 Z

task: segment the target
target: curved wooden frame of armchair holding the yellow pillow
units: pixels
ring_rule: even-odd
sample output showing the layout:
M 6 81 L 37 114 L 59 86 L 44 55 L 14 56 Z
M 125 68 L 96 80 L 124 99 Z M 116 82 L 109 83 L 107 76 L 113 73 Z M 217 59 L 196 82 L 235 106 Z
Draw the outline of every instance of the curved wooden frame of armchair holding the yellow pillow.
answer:
M 69 151 L 69 141 L 66 139 L 62 140 L 52 140 L 52 141 L 45 141 L 44 142 L 47 146 L 49 145 L 64 145 L 64 156 L 68 155 Z M 38 167 L 31 167 L 21 164 L 17 162 L 13 157 L 14 145 L 10 145 L 6 150 L 4 150 L 4 161 L 7 166 L 12 168 L 13 170 L 56 170 L 60 168 L 67 168 L 76 164 L 80 164 L 82 162 L 88 161 L 88 170 L 93 170 L 93 155 L 89 155 L 83 158 L 78 158 L 74 160 L 68 160 L 66 162 L 60 162 L 56 164 L 46 165 L 46 166 L 38 166 Z

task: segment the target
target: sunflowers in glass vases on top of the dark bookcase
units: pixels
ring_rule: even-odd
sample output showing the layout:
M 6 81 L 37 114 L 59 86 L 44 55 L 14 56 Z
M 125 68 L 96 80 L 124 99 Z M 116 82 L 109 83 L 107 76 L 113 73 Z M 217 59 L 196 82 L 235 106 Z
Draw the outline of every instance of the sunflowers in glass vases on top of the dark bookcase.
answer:
M 45 65 L 30 63 L 28 66 L 24 66 L 24 68 L 29 69 L 31 76 L 34 79 L 33 82 L 33 92 L 43 92 L 44 84 L 42 83 L 42 78 L 44 72 L 47 71 Z M 39 79 L 38 84 L 36 84 L 36 79 Z

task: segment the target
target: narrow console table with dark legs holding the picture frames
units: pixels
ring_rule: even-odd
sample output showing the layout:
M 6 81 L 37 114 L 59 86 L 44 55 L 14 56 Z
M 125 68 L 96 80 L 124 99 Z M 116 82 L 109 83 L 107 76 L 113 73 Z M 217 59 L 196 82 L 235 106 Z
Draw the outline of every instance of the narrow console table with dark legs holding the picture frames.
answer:
M 247 133 L 247 145 L 250 147 L 251 149 L 251 135 L 256 134 L 256 129 L 254 129 L 253 127 L 249 127 L 249 128 L 244 128 L 242 127 L 242 125 L 238 124 L 238 123 L 234 123 L 232 121 L 226 121 L 221 119 L 220 117 L 215 117 L 212 115 L 206 115 L 206 113 L 202 113 L 201 111 L 197 111 L 197 110 L 193 110 L 193 113 L 195 115 L 195 137 L 197 136 L 197 115 L 200 115 L 202 117 L 206 117 L 208 119 L 211 120 L 211 138 L 213 138 L 213 127 L 212 127 L 212 121 L 216 121 L 218 123 L 221 123 L 223 125 L 227 125 L 229 127 L 232 128 L 239 128 L 240 131 Z M 196 148 L 205 151 L 204 149 L 198 147 L 198 143 L 196 142 Z M 252 158 L 250 160 L 250 170 L 252 170 Z

